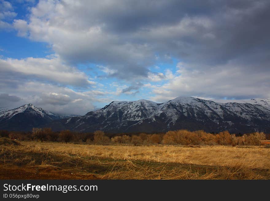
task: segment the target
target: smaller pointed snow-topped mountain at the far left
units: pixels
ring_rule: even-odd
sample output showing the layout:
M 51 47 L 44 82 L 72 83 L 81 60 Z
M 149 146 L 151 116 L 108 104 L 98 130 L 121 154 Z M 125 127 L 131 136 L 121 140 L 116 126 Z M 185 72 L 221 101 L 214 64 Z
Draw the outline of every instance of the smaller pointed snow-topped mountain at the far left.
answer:
M 12 110 L 0 111 L 0 129 L 29 131 L 33 127 L 42 127 L 53 120 L 69 116 L 56 115 L 33 104 L 25 104 Z

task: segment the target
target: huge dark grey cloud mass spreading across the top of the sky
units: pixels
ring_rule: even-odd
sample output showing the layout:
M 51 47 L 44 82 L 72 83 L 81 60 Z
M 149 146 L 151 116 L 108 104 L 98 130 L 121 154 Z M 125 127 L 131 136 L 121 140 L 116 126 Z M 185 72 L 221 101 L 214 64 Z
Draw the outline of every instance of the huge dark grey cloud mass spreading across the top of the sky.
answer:
M 245 63 L 245 55 L 268 51 L 269 5 L 42 0 L 31 9 L 27 29 L 22 20 L 14 27 L 19 35 L 49 43 L 66 61 L 102 64 L 108 75 L 134 82 L 152 76 L 156 58 L 177 58 L 201 69 L 240 57 Z

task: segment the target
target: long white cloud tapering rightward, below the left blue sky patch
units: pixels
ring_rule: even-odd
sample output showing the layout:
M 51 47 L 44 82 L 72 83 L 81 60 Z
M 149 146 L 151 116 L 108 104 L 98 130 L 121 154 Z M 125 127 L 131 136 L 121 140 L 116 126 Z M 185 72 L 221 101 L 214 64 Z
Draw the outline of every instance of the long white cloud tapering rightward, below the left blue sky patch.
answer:
M 85 73 L 66 65 L 59 57 L 0 59 L 1 78 L 14 80 L 44 80 L 56 84 L 88 87 L 95 84 Z M 14 82 L 13 82 L 14 83 Z

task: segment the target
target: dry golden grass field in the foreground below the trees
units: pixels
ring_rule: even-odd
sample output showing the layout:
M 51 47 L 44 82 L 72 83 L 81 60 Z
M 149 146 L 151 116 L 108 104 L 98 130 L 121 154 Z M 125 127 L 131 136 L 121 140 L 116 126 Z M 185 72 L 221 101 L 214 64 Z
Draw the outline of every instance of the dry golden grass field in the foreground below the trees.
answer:
M 265 146 L 17 144 L 3 139 L 0 179 L 270 179 Z

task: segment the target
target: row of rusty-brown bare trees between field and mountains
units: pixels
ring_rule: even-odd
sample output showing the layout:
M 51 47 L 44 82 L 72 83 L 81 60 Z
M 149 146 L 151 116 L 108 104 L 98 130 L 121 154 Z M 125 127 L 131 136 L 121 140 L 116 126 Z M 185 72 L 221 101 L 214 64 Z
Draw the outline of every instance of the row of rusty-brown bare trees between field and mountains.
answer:
M 121 133 L 114 136 L 105 134 L 98 130 L 93 133 L 72 132 L 62 130 L 53 132 L 51 128 L 33 128 L 32 132 L 15 132 L 0 130 L 1 137 L 17 139 L 22 141 L 38 140 L 41 142 L 73 142 L 86 144 L 133 144 L 133 145 L 260 145 L 261 140 L 266 140 L 267 135 L 263 132 L 253 132 L 248 134 L 230 134 L 228 131 L 219 133 L 208 133 L 203 130 L 188 131 L 176 130 L 166 133 Z M 268 136 L 269 137 L 269 136 Z

